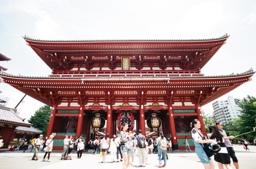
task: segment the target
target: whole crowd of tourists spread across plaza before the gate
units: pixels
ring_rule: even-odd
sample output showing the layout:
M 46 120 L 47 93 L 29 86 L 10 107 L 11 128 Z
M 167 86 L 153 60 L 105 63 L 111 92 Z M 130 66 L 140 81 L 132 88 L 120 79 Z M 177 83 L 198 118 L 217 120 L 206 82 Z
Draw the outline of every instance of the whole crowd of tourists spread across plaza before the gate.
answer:
M 234 136 L 227 136 L 226 132 L 223 130 L 222 123 L 218 122 L 215 125 L 209 125 L 208 128 L 210 133 L 208 133 L 207 136 L 204 136 L 201 132 L 201 124 L 198 119 L 193 120 L 191 128 L 191 136 L 195 143 L 195 152 L 204 168 L 214 168 L 211 156 L 214 156 L 214 160 L 218 163 L 219 168 L 224 168 L 223 166 L 231 168 L 230 158 L 232 158 L 234 166 L 237 169 L 239 168 L 236 153 L 234 152 L 229 140 L 233 139 Z M 160 132 L 158 137 L 151 136 L 146 139 L 146 137 L 142 135 L 141 130 L 138 130 L 138 134 L 136 134 L 132 131 L 128 131 L 128 129 L 128 124 L 123 123 L 121 125 L 121 132 L 117 132 L 117 135 L 113 135 L 111 139 L 109 134 L 106 134 L 105 136 L 90 140 L 88 152 L 92 154 L 96 154 L 97 152 L 100 153 L 102 163 L 106 162 L 106 156 L 109 154 L 111 157 L 110 162 L 123 161 L 123 168 L 127 168 L 132 165 L 134 163 L 135 156 L 138 156 L 139 158 L 139 166 L 145 167 L 147 164 L 148 154 L 155 153 L 158 155 L 158 167 L 165 167 L 166 160 L 168 159 L 167 151 L 173 152 L 172 141 L 170 138 L 167 137 L 166 139 L 164 133 Z M 38 150 L 44 142 L 42 137 L 43 135 L 40 135 L 39 138 L 32 140 L 32 146 L 35 149 L 32 160 L 38 160 Z M 49 139 L 45 143 L 45 155 L 42 161 L 50 161 L 49 159 L 54 141 L 53 137 L 53 135 L 50 135 Z M 191 152 L 187 136 L 185 136 L 184 140 L 186 152 Z M 65 139 L 63 140 L 64 146 L 61 154 L 61 160 L 72 159 L 72 150 L 77 153 L 77 158 L 81 158 L 82 153 L 85 152 L 86 149 L 84 147 L 85 142 L 86 139 L 82 136 L 77 137 L 75 140 L 72 136 L 65 136 Z M 241 142 L 243 142 L 247 151 L 249 142 L 244 138 Z M 209 149 L 209 147 L 211 149 Z

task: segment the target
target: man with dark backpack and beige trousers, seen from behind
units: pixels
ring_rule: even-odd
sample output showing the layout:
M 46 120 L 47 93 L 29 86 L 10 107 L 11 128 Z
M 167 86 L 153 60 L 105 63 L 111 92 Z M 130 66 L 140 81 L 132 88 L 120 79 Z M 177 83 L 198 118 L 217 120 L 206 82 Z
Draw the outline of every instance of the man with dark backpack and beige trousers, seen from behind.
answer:
M 139 166 L 146 166 L 145 165 L 145 148 L 146 148 L 145 141 L 146 141 L 146 138 L 141 133 L 142 133 L 142 131 L 139 130 L 139 135 L 136 136 L 137 150 L 138 150 L 139 161 L 140 161 Z

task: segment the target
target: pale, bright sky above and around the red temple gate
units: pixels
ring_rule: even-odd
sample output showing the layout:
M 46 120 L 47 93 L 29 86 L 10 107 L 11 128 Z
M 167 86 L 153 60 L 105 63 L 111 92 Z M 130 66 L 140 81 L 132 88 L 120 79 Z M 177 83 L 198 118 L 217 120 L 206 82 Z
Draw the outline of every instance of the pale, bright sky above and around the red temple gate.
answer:
M 0 62 L 7 73 L 48 76 L 51 69 L 26 45 L 25 34 L 45 40 L 204 39 L 230 35 L 204 66 L 210 75 L 256 70 L 256 1 L 0 1 Z M 256 96 L 255 77 L 228 95 Z M 15 107 L 23 93 L 1 83 L 1 95 Z M 20 115 L 29 118 L 42 106 L 25 98 Z M 203 106 L 212 112 L 211 104 Z

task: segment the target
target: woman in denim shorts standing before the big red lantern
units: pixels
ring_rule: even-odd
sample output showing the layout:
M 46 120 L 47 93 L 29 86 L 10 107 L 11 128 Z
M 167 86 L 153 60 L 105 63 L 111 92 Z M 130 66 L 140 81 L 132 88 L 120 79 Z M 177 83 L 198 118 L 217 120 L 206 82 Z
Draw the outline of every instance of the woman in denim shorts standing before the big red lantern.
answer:
M 132 159 L 131 159 L 131 148 L 126 148 L 125 143 L 133 139 L 134 135 L 127 132 L 128 129 L 128 124 L 123 123 L 121 125 L 121 132 L 120 132 L 120 140 L 121 140 L 121 152 L 123 155 L 123 169 L 126 169 L 132 164 Z

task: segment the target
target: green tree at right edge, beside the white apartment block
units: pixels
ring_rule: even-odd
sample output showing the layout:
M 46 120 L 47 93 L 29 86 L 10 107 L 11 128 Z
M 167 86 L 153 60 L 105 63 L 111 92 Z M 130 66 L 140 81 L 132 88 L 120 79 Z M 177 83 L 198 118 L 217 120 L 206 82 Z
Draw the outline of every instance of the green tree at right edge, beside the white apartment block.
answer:
M 241 134 L 246 133 L 256 127 L 256 98 L 253 96 L 247 95 L 247 98 L 244 98 L 239 104 L 239 107 L 242 109 L 240 120 L 241 120 Z M 253 139 L 255 137 L 255 132 L 246 134 L 247 139 Z

